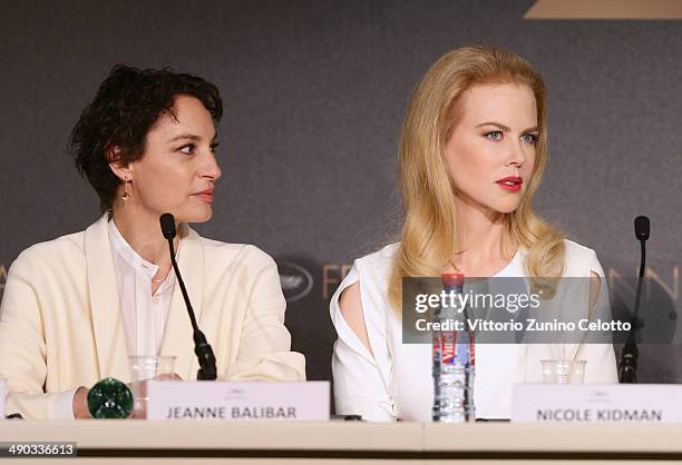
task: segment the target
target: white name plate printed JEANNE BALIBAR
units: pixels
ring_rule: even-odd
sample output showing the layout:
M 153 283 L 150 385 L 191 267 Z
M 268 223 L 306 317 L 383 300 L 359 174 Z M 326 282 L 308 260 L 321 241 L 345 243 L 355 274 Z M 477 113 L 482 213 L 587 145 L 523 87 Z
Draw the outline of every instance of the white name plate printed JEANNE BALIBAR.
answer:
M 324 422 L 329 382 L 148 382 L 147 419 Z

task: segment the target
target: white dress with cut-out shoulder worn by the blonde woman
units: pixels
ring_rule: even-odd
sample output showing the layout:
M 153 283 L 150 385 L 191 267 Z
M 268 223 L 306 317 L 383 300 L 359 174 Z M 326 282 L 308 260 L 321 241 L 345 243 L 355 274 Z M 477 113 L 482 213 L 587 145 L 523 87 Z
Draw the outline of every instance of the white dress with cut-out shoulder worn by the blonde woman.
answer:
M 564 277 L 590 277 L 604 271 L 594 250 L 566 240 Z M 359 414 L 374 422 L 430 422 L 433 387 L 431 346 L 403 344 L 399 315 L 388 303 L 388 280 L 398 244 L 359 258 L 330 301 L 332 323 L 339 338 L 334 344 L 332 374 L 337 413 Z M 495 277 L 525 277 L 525 253 Z M 587 279 L 585 280 L 588 281 Z M 372 354 L 343 319 L 339 296 L 347 287 L 360 284 L 364 324 Z M 605 287 L 605 279 L 602 279 Z M 607 293 L 602 293 L 606 296 Z M 508 418 L 514 383 L 542 380 L 542 364 L 562 358 L 569 345 L 559 344 L 477 344 L 474 402 L 478 418 Z M 578 346 L 572 346 L 577 350 Z M 558 350 L 558 352 L 557 352 Z M 585 344 L 579 358 L 586 359 L 585 383 L 617 383 L 611 344 Z

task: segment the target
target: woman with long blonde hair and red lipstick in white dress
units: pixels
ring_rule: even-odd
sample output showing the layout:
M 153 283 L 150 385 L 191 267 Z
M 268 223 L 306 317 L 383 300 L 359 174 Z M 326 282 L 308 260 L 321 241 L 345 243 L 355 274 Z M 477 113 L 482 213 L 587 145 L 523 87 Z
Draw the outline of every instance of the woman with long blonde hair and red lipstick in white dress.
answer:
M 457 49 L 418 85 L 400 144 L 401 240 L 357 259 L 330 304 L 339 414 L 430 421 L 431 347 L 402 344 L 403 277 L 457 270 L 603 286 L 595 253 L 533 212 L 547 162 L 545 93 L 527 61 L 494 47 Z M 553 346 L 477 345 L 477 417 L 508 418 L 512 385 L 542 380 Z M 586 383 L 617 383 L 611 345 L 584 345 L 579 358 Z

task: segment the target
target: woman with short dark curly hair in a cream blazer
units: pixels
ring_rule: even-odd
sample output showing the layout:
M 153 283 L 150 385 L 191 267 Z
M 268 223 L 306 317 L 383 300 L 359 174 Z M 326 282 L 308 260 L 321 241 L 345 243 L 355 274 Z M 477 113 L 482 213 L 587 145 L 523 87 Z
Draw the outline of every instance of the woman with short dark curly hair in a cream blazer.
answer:
M 25 250 L 8 274 L 0 307 L 8 414 L 88 417 L 85 386 L 128 382 L 129 355 L 176 356 L 177 376 L 196 377 L 164 212 L 175 217 L 175 255 L 218 379 L 304 379 L 272 258 L 187 226 L 213 215 L 222 112 L 217 88 L 195 76 L 116 66 L 103 82 L 70 140 L 103 216 Z

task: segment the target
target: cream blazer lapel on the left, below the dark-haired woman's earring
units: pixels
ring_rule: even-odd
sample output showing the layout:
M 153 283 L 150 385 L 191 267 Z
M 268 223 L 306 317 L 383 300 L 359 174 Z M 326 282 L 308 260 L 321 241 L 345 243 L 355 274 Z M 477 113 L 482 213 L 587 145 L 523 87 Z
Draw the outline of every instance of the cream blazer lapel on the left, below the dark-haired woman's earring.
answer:
M 107 214 L 86 229 L 85 254 L 99 377 L 111 376 L 128 382 L 130 368 L 126 333 L 118 301 Z

